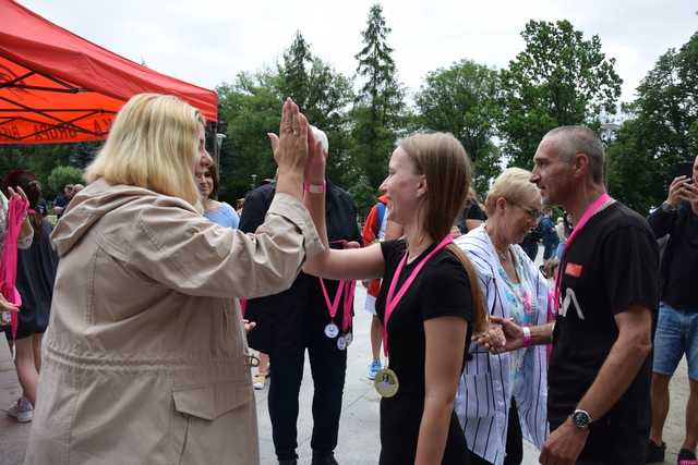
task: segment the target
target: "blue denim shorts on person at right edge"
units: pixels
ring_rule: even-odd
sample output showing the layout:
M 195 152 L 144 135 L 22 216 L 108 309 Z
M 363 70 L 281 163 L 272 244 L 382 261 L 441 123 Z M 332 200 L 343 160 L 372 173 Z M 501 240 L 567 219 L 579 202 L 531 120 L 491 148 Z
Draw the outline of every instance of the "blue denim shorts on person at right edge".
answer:
M 662 302 L 654 334 L 652 371 L 674 375 L 684 354 L 688 360 L 688 377 L 698 380 L 698 309 L 682 310 Z

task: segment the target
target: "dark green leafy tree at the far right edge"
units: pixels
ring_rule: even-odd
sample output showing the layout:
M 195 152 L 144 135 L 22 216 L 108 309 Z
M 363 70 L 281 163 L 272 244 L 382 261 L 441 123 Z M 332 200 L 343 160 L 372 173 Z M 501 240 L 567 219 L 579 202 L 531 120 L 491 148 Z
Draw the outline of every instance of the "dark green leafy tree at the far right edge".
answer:
M 609 147 L 609 188 L 647 213 L 666 198 L 677 163 L 698 155 L 698 33 L 659 58 L 637 95 Z

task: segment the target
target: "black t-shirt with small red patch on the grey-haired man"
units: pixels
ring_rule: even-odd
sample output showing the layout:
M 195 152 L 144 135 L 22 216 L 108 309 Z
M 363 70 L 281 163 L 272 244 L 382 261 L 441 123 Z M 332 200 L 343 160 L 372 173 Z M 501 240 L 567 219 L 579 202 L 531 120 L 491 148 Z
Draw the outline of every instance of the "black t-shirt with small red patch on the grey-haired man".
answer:
M 566 250 L 547 377 L 551 428 L 574 412 L 599 374 L 618 335 L 614 316 L 630 305 L 657 310 L 658 257 L 647 221 L 617 201 L 594 215 Z M 649 428 L 649 382 L 648 357 L 621 400 L 594 419 L 582 458 L 599 460 L 624 432 Z

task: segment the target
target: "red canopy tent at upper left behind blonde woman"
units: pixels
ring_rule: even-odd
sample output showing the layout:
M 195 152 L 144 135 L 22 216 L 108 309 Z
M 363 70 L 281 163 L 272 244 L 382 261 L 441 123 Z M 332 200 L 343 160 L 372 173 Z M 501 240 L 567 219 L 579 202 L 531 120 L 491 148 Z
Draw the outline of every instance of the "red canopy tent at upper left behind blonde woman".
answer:
M 127 60 L 0 0 L 0 144 L 104 139 L 129 98 L 171 94 L 218 118 L 216 93 Z

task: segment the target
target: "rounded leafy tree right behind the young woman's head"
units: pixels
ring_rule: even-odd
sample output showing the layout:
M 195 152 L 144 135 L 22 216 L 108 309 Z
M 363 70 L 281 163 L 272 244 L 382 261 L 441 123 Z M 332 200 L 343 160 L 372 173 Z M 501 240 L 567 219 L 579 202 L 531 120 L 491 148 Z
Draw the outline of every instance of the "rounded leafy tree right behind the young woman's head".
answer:
M 500 150 L 493 143 L 497 91 L 495 70 L 462 60 L 430 72 L 416 95 L 421 125 L 452 133 L 468 151 L 480 194 L 488 192 L 490 180 L 501 172 Z

